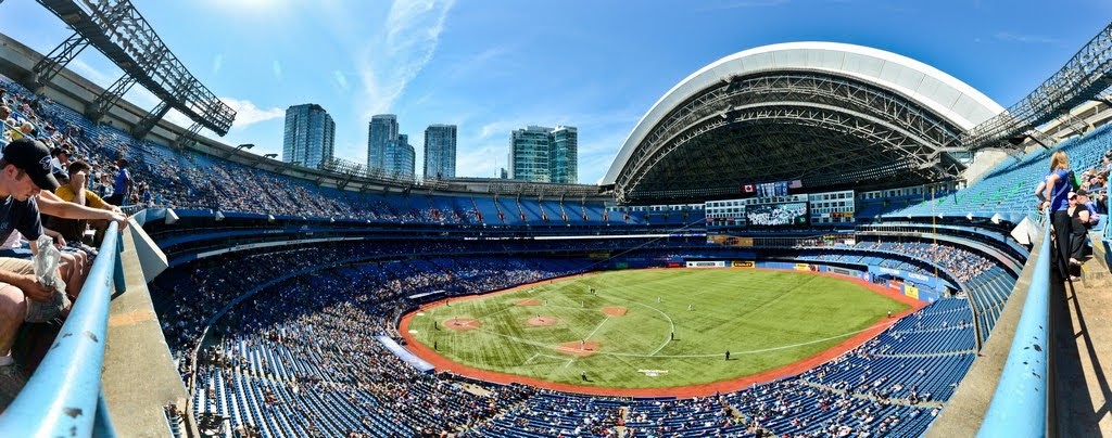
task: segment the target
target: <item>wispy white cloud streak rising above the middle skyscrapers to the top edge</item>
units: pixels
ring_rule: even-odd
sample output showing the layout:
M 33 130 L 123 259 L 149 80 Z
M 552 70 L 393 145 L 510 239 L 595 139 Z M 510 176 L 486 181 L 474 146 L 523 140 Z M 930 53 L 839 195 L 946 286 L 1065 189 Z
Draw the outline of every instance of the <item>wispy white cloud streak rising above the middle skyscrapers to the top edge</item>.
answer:
M 361 116 L 390 110 L 406 85 L 433 59 L 454 0 L 396 0 L 386 23 L 356 63 L 363 84 Z

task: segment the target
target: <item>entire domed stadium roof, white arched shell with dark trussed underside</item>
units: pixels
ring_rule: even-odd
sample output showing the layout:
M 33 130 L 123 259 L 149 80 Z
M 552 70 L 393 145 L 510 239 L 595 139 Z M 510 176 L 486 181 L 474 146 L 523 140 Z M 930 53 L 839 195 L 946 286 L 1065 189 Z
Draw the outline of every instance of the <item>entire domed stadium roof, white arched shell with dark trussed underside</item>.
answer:
M 619 202 L 702 201 L 742 185 L 878 189 L 954 179 L 959 135 L 1004 109 L 922 62 L 860 45 L 738 52 L 668 90 L 603 179 Z

